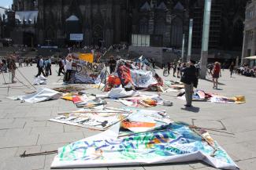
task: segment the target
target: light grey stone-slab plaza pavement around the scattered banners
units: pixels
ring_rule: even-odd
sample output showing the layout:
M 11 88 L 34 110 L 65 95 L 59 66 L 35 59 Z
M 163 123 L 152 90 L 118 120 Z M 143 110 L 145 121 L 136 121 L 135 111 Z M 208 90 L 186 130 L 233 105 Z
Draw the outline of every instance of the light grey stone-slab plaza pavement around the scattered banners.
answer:
M 47 85 L 37 85 L 36 88 L 54 88 L 62 85 L 61 78 L 57 76 L 58 67 L 53 66 L 53 75 L 47 80 Z M 162 71 L 159 75 L 162 75 Z M 28 85 L 21 76 L 24 74 L 29 81 L 37 74 L 35 64 L 33 67 L 21 67 L 17 71 L 17 78 Z M 72 125 L 63 125 L 47 121 L 57 117 L 59 113 L 77 110 L 76 106 L 69 101 L 57 99 L 43 103 L 20 103 L 6 99 L 6 95 L 24 95 L 35 89 L 28 89 L 17 82 L 3 85 L 4 78 L 9 81 L 9 74 L 3 77 L 0 74 L 0 169 L 1 170 L 47 170 L 56 154 L 36 157 L 20 157 L 26 150 L 27 154 L 43 151 L 57 150 L 58 147 L 72 143 L 98 133 L 96 130 L 80 128 Z M 169 76 L 166 80 L 178 80 Z M 164 99 L 173 101 L 173 107 L 157 106 L 150 109 L 167 110 L 170 118 L 174 121 L 185 121 L 189 124 L 202 128 L 225 129 L 224 132 L 209 131 L 213 139 L 228 152 L 239 168 L 242 170 L 256 169 L 256 78 L 247 78 L 234 75 L 229 78 L 229 71 L 222 73 L 219 90 L 213 89 L 211 81 L 200 80 L 198 89 L 206 92 L 217 92 L 224 96 L 246 96 L 247 103 L 217 104 L 194 102 L 191 110 L 184 109 L 184 101 L 176 99 L 176 92 L 162 94 Z M 88 88 L 90 86 L 87 86 Z M 101 93 L 98 89 L 88 89 L 90 93 Z M 109 99 L 109 107 L 123 107 L 120 103 Z M 202 162 L 188 162 L 181 164 L 166 165 L 142 165 L 135 167 L 109 167 L 109 168 L 83 168 L 99 170 L 210 170 L 212 168 Z

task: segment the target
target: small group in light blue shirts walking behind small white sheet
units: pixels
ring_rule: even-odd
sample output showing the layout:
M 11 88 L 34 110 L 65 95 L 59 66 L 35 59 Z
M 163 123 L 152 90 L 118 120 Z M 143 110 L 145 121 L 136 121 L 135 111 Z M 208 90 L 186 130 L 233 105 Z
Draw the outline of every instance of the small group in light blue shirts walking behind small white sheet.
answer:
M 39 59 L 36 63 L 36 67 L 38 68 L 38 74 L 36 74 L 35 77 L 38 77 L 41 74 L 43 74 L 44 77 L 48 77 L 52 74 L 50 58 L 43 58 L 43 56 L 39 56 Z

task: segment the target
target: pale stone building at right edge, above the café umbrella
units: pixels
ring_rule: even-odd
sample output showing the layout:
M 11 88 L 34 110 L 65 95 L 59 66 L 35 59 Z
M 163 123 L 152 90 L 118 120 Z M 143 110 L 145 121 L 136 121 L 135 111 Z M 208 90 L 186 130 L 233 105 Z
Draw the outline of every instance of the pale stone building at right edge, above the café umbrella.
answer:
M 256 55 L 256 0 L 247 4 L 243 31 L 243 58 Z M 254 65 L 254 60 L 242 60 Z

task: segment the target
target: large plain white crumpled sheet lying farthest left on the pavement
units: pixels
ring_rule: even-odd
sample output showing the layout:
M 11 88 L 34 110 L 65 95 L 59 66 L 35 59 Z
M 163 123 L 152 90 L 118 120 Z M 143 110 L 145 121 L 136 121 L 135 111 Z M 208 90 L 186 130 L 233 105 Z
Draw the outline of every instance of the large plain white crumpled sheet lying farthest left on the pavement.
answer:
M 41 88 L 38 89 L 36 92 L 33 92 L 32 94 L 26 96 L 13 96 L 8 98 L 14 100 L 21 100 L 28 103 L 39 103 L 50 99 L 59 99 L 61 98 L 61 96 L 61 92 L 57 92 L 52 89 Z

